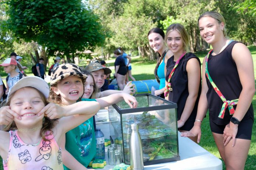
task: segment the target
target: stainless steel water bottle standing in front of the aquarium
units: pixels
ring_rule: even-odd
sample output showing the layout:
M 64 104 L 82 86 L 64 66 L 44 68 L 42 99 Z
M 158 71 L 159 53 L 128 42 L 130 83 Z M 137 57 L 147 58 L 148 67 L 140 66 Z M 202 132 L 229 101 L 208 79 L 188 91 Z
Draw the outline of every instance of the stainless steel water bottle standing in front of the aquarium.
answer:
M 130 163 L 132 170 L 143 170 L 143 153 L 141 136 L 138 131 L 138 124 L 131 124 L 131 137 L 129 141 Z

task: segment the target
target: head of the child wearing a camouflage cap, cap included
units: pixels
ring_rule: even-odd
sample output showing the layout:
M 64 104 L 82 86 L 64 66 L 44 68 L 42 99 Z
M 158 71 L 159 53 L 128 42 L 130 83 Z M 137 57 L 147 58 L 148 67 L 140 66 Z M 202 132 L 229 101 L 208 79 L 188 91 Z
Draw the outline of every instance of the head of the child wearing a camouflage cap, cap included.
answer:
M 100 63 L 93 62 L 85 67 L 85 70 L 92 73 L 97 89 L 100 89 L 104 85 L 104 75 L 110 74 L 112 71 L 103 67 Z

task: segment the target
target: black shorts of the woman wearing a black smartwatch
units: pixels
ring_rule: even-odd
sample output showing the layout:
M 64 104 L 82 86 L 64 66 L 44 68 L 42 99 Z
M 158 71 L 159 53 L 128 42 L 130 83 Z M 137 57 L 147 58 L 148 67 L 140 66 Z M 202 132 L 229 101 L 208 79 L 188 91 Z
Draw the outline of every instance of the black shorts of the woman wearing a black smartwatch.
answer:
M 253 120 L 251 118 L 242 120 L 238 125 L 237 136 L 235 138 L 251 140 Z M 217 125 L 210 119 L 211 132 L 223 134 L 226 125 Z

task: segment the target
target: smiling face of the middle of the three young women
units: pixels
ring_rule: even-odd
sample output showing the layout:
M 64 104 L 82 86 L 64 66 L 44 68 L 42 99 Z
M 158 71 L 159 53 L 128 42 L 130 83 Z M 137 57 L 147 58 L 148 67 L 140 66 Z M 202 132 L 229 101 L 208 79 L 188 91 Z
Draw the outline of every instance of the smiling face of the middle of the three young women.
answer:
M 181 34 L 179 34 L 177 30 L 173 30 L 167 35 L 166 43 L 168 48 L 174 54 L 179 54 L 184 51 Z

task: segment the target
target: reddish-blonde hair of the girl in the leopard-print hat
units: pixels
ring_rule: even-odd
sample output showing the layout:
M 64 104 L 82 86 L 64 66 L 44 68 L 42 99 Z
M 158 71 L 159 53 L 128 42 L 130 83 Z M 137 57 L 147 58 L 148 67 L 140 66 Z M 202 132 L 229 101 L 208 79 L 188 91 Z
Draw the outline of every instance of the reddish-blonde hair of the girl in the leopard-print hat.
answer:
M 79 77 L 81 78 L 81 77 Z M 64 80 L 64 79 L 63 79 Z M 82 81 L 82 84 L 83 84 L 83 93 L 84 93 L 84 88 L 85 88 L 85 79 L 81 78 L 81 81 Z M 50 87 L 50 93 L 49 93 L 49 97 L 48 97 L 48 100 L 51 102 L 51 103 L 55 103 L 55 104 L 58 104 L 59 106 L 68 106 L 68 103 L 65 103 L 62 101 L 61 99 L 61 95 L 60 94 L 56 94 L 54 91 L 53 91 L 53 87 L 57 87 L 59 82 L 57 82 L 56 84 L 52 85 Z M 82 94 L 83 96 L 83 94 Z M 81 97 L 82 97 L 81 96 Z M 81 97 L 79 98 L 79 101 L 81 101 Z

